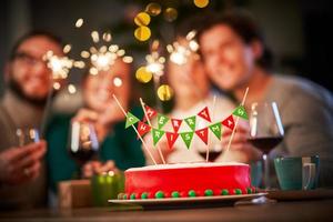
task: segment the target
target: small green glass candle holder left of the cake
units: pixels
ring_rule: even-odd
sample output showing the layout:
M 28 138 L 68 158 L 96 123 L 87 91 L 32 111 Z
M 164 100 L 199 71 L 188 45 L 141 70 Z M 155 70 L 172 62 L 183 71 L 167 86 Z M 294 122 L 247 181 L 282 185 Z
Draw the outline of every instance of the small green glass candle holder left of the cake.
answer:
M 91 178 L 91 190 L 93 205 L 107 206 L 108 200 L 117 199 L 124 189 L 124 176 L 122 172 L 109 171 L 95 174 Z

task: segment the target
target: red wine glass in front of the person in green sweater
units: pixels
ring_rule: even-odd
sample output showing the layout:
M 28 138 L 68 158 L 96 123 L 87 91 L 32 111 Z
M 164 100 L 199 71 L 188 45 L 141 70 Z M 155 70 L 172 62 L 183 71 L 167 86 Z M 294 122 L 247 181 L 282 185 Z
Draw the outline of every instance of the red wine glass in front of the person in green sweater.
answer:
M 99 141 L 94 125 L 88 122 L 72 122 L 69 138 L 69 152 L 71 158 L 79 165 L 79 171 L 81 171 L 84 163 L 97 155 L 98 150 Z

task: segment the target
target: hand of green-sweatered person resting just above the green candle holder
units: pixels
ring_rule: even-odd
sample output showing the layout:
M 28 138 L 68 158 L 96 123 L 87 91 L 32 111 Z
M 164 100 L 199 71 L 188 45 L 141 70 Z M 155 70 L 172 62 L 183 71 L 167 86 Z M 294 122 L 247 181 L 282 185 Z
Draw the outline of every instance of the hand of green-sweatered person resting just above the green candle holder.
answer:
M 82 167 L 82 176 L 91 178 L 94 174 L 101 174 L 109 171 L 119 171 L 112 160 L 108 160 L 105 163 L 102 163 L 100 161 L 89 161 Z

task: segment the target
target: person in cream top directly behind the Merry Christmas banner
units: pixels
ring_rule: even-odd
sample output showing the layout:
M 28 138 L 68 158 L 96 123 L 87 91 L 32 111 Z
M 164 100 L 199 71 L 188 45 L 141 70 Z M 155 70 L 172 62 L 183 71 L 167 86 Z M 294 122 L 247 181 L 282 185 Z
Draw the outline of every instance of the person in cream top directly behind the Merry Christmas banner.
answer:
M 185 21 L 179 27 L 176 42 L 180 47 L 190 50 L 189 43 L 185 36 L 191 31 L 193 27 L 196 27 L 195 22 L 192 20 Z M 195 130 L 205 128 L 216 121 L 222 121 L 224 118 L 228 118 L 235 105 L 233 102 L 226 98 L 224 94 L 219 93 L 212 89 L 209 78 L 204 71 L 204 67 L 200 59 L 200 56 L 191 51 L 186 56 L 185 62 L 176 63 L 178 61 L 169 60 L 167 63 L 167 77 L 170 87 L 174 91 L 174 105 L 172 111 L 168 113 L 169 118 L 174 119 L 185 119 L 192 115 L 196 115 L 205 107 L 209 108 L 211 122 L 196 117 L 195 120 Z M 215 99 L 215 104 L 213 100 Z M 154 125 L 155 123 L 152 122 Z M 171 122 L 163 127 L 163 130 L 173 132 Z M 179 132 L 189 131 L 189 127 L 183 121 L 179 129 Z M 149 133 L 145 137 L 145 141 L 150 144 L 150 151 L 153 153 L 154 159 L 158 163 L 162 163 L 160 154 L 157 149 L 152 145 L 152 135 Z M 200 162 L 204 161 L 205 158 L 201 157 L 200 152 L 205 152 L 209 148 L 211 152 L 222 151 L 214 150 L 214 145 L 220 144 L 220 141 L 213 135 L 212 132 L 209 132 L 209 145 L 206 145 L 198 135 L 193 135 L 190 149 L 186 148 L 181 137 L 179 137 L 172 149 L 169 148 L 165 135 L 158 143 L 162 150 L 163 157 L 168 163 L 179 163 L 179 162 Z M 150 159 L 148 159 L 149 161 Z M 215 161 L 243 161 L 241 152 L 236 151 L 233 153 L 220 154 Z M 149 162 L 151 164 L 151 162 Z

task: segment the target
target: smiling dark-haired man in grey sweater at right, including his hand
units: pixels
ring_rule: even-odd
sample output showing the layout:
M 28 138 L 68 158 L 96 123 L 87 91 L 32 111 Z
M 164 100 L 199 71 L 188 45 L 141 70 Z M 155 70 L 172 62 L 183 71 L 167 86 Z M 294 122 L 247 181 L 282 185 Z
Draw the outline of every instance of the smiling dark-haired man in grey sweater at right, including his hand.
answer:
M 333 99 L 323 87 L 300 77 L 271 71 L 272 53 L 251 14 L 230 11 L 204 18 L 199 31 L 200 52 L 210 79 L 232 93 L 239 103 L 249 87 L 245 108 L 253 102 L 278 103 L 283 141 L 270 153 L 278 155 L 320 155 L 320 184 L 333 185 Z M 243 150 L 255 161 L 261 152 L 248 142 L 249 124 L 239 124 L 231 149 Z M 223 145 L 231 137 L 224 131 Z M 274 172 L 274 171 L 271 171 Z

